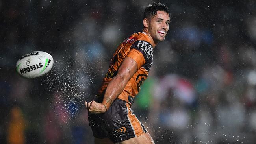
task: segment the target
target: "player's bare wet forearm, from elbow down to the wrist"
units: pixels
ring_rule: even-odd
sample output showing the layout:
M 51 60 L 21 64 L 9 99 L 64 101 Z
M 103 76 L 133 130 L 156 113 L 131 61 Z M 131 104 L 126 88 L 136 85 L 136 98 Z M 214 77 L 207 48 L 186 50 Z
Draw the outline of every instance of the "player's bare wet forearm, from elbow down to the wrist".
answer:
M 128 79 L 124 76 L 115 76 L 108 84 L 102 104 L 108 109 L 114 100 L 121 94 L 122 90 L 126 86 Z

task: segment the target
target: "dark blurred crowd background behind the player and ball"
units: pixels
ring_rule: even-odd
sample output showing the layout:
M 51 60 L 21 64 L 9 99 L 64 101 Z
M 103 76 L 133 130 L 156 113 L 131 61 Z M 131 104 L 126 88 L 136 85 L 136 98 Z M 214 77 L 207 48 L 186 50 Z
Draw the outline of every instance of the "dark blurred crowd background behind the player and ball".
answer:
M 93 144 L 84 101 L 152 2 L 0 0 L 0 143 Z M 171 24 L 134 114 L 156 144 L 254 144 L 255 1 L 160 2 Z M 51 54 L 54 67 L 21 78 L 15 64 L 35 50 Z

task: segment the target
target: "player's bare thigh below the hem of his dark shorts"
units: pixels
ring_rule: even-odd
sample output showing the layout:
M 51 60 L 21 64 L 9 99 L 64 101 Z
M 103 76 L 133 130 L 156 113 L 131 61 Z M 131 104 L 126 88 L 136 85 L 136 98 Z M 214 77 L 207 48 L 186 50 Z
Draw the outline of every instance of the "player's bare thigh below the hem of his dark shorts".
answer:
M 119 144 L 154 144 L 154 141 L 149 133 L 146 132 L 139 137 L 134 137 L 123 142 L 119 142 Z

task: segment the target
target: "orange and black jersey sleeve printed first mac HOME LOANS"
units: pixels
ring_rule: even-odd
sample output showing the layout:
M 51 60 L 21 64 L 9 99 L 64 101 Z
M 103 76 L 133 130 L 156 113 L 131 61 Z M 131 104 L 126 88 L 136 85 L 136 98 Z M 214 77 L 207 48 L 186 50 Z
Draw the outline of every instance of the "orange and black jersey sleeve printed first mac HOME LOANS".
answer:
M 130 52 L 127 55 L 134 59 L 138 65 L 138 69 L 143 66 L 147 61 L 152 60 L 153 46 L 143 40 L 135 41 L 130 48 Z

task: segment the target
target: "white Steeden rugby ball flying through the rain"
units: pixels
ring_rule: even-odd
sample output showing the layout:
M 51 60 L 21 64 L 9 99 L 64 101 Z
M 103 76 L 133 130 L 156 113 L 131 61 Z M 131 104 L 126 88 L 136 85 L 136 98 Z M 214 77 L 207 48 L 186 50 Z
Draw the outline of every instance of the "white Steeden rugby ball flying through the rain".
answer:
M 16 63 L 16 72 L 25 78 L 36 78 L 47 74 L 53 66 L 53 58 L 43 51 L 23 55 Z

